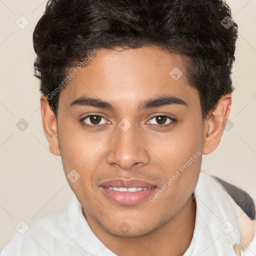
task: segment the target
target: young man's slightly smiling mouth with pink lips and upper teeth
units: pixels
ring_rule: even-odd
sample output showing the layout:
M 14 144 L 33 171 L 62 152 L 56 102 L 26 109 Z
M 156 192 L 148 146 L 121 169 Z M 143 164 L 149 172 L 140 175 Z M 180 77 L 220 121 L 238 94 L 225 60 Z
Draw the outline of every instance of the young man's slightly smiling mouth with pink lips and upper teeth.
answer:
M 134 205 L 144 201 L 156 185 L 139 179 L 112 179 L 100 185 L 100 190 L 109 200 L 122 205 Z

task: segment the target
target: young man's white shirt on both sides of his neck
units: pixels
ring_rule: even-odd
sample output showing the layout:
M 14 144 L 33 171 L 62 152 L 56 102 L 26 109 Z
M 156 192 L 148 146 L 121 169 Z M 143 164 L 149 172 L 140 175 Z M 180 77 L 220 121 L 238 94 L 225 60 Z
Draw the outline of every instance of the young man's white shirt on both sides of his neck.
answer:
M 240 232 L 227 193 L 201 171 L 194 196 L 195 228 L 183 256 L 235 256 L 232 245 Z M 24 234 L 12 233 L 0 256 L 117 256 L 92 232 L 75 195 L 65 207 L 27 224 Z

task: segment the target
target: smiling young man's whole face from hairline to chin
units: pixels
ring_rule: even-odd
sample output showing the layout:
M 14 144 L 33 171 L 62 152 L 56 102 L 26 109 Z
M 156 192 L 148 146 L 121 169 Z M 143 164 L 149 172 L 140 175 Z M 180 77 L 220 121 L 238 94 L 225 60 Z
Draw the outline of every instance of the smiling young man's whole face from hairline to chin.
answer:
M 157 47 L 99 49 L 59 95 L 64 172 L 85 217 L 108 233 L 156 230 L 196 185 L 203 120 L 184 61 Z

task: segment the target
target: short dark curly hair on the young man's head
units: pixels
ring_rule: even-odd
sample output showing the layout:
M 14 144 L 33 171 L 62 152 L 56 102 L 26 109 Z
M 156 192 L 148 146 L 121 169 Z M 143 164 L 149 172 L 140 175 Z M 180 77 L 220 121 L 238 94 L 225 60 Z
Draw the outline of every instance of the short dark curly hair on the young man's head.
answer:
M 237 24 L 221 0 L 48 0 L 33 31 L 34 76 L 57 117 L 59 93 L 52 92 L 93 49 L 159 46 L 188 57 L 186 74 L 205 119 L 234 89 L 236 39 Z

